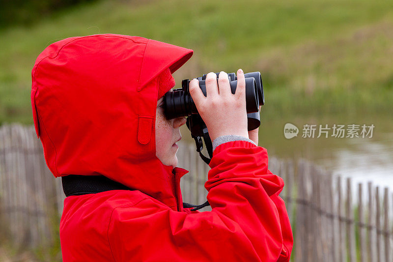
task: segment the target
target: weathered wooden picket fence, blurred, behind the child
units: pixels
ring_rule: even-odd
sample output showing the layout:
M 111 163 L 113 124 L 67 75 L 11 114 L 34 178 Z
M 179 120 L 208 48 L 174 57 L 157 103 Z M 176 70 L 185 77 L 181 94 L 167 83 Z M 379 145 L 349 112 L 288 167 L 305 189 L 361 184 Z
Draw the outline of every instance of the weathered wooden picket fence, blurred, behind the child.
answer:
M 182 144 L 183 201 L 206 201 L 209 167 L 194 146 Z M 284 199 L 294 233 L 291 261 L 393 261 L 392 193 L 371 182 L 354 185 L 305 160 L 269 157 L 285 182 Z M 0 234 L 19 247 L 58 245 L 64 194 L 45 164 L 33 126 L 0 126 Z M 205 207 L 201 211 L 209 211 Z

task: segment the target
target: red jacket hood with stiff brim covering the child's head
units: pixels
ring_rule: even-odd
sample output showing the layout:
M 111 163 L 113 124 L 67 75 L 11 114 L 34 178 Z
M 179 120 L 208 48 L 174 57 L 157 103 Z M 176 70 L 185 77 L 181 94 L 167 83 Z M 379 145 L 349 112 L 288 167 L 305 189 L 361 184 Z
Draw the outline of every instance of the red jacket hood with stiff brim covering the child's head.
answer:
M 31 105 L 56 177 L 105 175 L 174 205 L 175 175 L 155 155 L 157 76 L 193 50 L 137 36 L 98 34 L 48 46 L 31 72 Z

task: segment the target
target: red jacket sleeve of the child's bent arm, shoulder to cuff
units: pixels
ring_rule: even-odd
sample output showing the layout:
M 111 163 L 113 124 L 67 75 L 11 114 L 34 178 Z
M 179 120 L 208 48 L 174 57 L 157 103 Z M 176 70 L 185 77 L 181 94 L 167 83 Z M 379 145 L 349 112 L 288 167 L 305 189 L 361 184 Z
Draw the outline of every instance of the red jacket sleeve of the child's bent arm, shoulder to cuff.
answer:
M 177 212 L 152 198 L 116 207 L 108 228 L 114 261 L 289 261 L 283 181 L 267 166 L 265 148 L 227 142 L 214 150 L 205 183 L 212 211 Z

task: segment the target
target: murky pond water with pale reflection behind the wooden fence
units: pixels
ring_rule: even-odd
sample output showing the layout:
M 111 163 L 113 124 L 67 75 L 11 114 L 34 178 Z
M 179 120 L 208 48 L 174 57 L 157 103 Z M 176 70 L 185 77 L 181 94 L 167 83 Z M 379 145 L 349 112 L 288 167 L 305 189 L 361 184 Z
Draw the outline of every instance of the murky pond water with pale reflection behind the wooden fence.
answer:
M 278 157 L 304 157 L 324 167 L 335 175 L 352 177 L 354 185 L 368 181 L 393 190 L 393 121 L 387 118 L 361 118 L 352 121 L 326 117 L 325 119 L 296 119 L 299 127 L 298 137 L 285 139 L 285 121 L 265 123 L 261 129 L 262 143 Z M 338 118 L 338 116 L 337 116 Z M 304 124 L 374 124 L 371 138 L 302 138 Z M 331 132 L 332 133 L 332 132 Z M 331 134 L 329 133 L 329 135 Z M 260 146 L 262 146 L 260 144 Z M 353 186 L 354 188 L 354 186 Z

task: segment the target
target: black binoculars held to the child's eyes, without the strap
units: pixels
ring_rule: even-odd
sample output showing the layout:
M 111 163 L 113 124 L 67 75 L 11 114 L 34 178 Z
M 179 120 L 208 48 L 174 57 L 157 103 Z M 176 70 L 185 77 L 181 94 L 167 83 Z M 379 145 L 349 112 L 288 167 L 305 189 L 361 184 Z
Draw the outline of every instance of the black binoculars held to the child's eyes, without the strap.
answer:
M 217 79 L 219 73 L 216 73 Z M 244 74 L 246 80 L 246 111 L 248 118 L 248 130 L 253 130 L 260 125 L 259 106 L 265 103 L 263 95 L 262 77 L 260 72 Z M 197 77 L 199 88 L 206 96 L 206 74 Z M 232 94 L 236 91 L 237 77 L 235 73 L 228 74 L 229 85 Z M 167 119 L 181 116 L 199 115 L 197 107 L 189 90 L 189 79 L 181 82 L 181 88 L 169 91 L 164 96 L 164 112 Z

